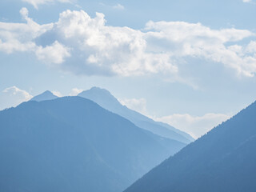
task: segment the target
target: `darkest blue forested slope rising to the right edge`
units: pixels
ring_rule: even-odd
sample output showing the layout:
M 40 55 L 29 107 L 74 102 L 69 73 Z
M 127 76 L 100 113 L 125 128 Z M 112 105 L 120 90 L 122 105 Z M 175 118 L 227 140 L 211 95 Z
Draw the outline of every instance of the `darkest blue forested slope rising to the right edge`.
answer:
M 256 102 L 162 162 L 125 192 L 256 190 Z

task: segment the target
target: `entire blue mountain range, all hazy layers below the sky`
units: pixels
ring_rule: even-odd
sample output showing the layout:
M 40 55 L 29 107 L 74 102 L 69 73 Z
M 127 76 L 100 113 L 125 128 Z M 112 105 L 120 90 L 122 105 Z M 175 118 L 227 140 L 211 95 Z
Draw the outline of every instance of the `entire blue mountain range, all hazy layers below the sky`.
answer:
M 0 111 L 0 191 L 254 192 L 255 125 L 256 102 L 191 142 L 108 90 L 46 91 Z

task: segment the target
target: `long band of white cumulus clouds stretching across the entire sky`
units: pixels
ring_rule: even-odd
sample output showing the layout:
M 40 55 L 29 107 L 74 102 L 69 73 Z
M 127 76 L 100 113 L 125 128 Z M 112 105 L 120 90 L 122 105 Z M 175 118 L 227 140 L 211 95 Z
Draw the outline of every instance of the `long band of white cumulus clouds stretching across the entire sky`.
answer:
M 248 77 L 256 72 L 254 41 L 238 43 L 254 38 L 249 30 L 212 30 L 188 22 L 148 22 L 144 30 L 134 30 L 108 26 L 104 14 L 91 18 L 83 10 L 66 10 L 58 22 L 39 25 L 26 8 L 20 12 L 26 23 L 0 22 L 0 51 L 31 52 L 74 74 L 177 77 L 179 60 L 186 58 L 220 62 Z

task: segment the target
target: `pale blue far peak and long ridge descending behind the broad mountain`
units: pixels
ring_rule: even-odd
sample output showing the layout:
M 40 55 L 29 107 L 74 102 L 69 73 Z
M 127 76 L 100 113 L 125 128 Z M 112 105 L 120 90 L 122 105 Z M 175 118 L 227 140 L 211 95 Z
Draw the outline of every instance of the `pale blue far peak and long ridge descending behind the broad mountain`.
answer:
M 98 105 L 102 106 L 106 110 L 119 114 L 122 117 L 129 119 L 131 122 L 134 122 L 136 126 L 139 126 L 145 130 L 150 130 L 154 134 L 171 138 L 179 142 L 190 143 L 194 141 L 194 138 L 192 138 L 189 134 L 175 129 L 173 126 L 169 126 L 163 122 L 154 122 L 154 120 L 147 118 L 134 110 L 130 110 L 126 106 L 122 106 L 122 104 L 118 102 L 118 99 L 114 98 L 114 96 L 110 94 L 108 90 L 93 87 L 90 90 L 83 91 L 82 93 L 78 94 L 78 96 L 88 98 L 98 103 Z

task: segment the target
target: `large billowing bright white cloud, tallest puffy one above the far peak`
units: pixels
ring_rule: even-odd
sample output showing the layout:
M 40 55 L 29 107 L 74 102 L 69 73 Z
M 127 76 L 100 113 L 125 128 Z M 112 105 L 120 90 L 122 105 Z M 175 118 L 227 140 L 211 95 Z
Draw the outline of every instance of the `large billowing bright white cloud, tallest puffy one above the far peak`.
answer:
M 104 15 L 99 13 L 95 18 L 84 11 L 67 10 L 60 14 L 56 30 L 64 42 L 74 45 L 75 62 L 79 64 L 72 70 L 76 73 L 130 76 L 176 72 L 168 55 L 146 52 L 141 31 L 105 23 Z

